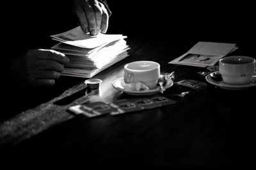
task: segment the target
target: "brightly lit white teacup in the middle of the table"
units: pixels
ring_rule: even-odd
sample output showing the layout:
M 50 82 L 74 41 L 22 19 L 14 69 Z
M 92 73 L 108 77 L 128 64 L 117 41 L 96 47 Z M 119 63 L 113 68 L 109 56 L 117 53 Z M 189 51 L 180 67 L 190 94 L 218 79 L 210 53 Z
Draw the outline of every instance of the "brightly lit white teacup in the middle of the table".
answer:
M 149 89 L 156 88 L 160 65 L 154 61 L 134 61 L 124 66 L 124 82 L 143 82 Z

